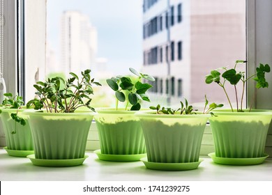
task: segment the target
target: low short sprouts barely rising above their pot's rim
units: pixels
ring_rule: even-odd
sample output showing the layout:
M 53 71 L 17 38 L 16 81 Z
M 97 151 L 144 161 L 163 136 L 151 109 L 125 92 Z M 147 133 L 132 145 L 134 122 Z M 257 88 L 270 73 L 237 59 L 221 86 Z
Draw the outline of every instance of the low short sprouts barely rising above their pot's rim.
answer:
M 193 109 L 192 105 L 188 104 L 188 100 L 185 99 L 185 104 L 181 101 L 181 107 L 179 109 L 172 109 L 172 108 L 165 108 L 162 107 L 160 109 L 160 104 L 157 105 L 157 107 L 149 107 L 150 109 L 156 110 L 157 114 L 197 114 L 196 111 L 197 109 Z M 211 103 L 209 104 L 209 108 L 207 108 L 207 105 L 209 104 L 209 101 L 206 98 L 205 95 L 205 106 L 203 110 L 203 114 L 208 114 L 211 113 L 213 109 L 223 107 L 223 104 L 216 104 L 216 103 Z M 212 113 L 211 113 L 212 114 Z

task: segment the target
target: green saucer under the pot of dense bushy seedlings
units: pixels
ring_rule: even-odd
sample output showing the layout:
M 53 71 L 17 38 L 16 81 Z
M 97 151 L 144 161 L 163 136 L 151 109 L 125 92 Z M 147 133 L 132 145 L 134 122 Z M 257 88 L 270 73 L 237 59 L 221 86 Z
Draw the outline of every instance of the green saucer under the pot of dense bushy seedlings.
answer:
M 85 155 L 79 159 L 36 159 L 35 155 L 28 155 L 27 157 L 36 166 L 77 166 L 81 165 L 89 156 Z

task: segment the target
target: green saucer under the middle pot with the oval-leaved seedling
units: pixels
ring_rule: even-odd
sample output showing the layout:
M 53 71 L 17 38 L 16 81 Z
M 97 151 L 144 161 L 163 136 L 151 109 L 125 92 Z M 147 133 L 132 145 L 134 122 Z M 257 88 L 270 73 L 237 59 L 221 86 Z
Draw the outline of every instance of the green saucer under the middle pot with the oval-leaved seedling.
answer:
M 130 161 L 139 161 L 142 157 L 146 157 L 146 153 L 138 154 L 138 155 L 107 155 L 101 154 L 100 150 L 95 150 L 93 153 L 98 155 L 99 159 L 105 161 L 118 161 L 118 162 L 130 162 Z

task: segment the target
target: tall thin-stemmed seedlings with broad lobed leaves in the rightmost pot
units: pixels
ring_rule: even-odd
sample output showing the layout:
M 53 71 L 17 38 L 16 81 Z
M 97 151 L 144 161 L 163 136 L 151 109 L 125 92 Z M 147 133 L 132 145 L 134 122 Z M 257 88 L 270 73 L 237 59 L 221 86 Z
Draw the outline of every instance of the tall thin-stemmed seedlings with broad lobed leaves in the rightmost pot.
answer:
M 222 87 L 225 95 L 227 96 L 227 101 L 229 102 L 229 105 L 234 111 L 232 107 L 232 103 L 229 100 L 229 95 L 227 94 L 225 84 L 228 81 L 229 84 L 234 86 L 235 91 L 235 98 L 236 98 L 236 110 L 237 111 L 243 111 L 243 96 L 245 94 L 245 84 L 249 79 L 254 79 L 256 83 L 256 88 L 267 88 L 269 86 L 268 82 L 265 79 L 265 73 L 270 72 L 270 66 L 268 64 L 263 65 L 262 63 L 259 64 L 259 67 L 256 68 L 256 73 L 246 77 L 245 72 L 236 72 L 236 66 L 241 63 L 246 63 L 246 61 L 237 60 L 234 68 L 227 69 L 227 68 L 219 68 L 217 70 L 211 70 L 211 74 L 206 76 L 206 84 L 211 84 L 215 82 L 220 87 Z M 224 72 L 221 73 L 218 70 L 224 70 Z M 237 84 L 239 84 L 239 81 L 243 84 L 243 89 L 241 93 L 241 103 L 239 108 L 239 100 L 238 100 L 238 92 L 237 92 Z M 252 108 L 252 104 L 250 105 L 250 110 Z

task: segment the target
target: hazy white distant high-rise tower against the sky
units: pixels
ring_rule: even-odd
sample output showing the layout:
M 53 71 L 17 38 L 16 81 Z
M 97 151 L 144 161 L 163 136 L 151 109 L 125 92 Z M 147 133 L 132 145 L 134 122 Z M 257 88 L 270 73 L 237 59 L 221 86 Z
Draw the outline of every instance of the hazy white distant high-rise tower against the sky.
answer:
M 77 11 L 66 11 L 61 17 L 61 69 L 80 74 L 91 69 L 96 60 L 97 31 L 89 17 Z

